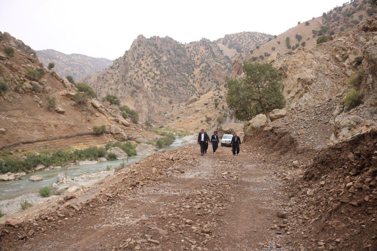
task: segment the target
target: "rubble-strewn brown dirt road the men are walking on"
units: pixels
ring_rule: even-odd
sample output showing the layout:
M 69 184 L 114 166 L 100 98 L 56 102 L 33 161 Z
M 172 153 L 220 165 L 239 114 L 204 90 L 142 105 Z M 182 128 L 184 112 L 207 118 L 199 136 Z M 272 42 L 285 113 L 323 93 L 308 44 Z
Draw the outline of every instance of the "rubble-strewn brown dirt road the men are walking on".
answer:
M 162 176 L 77 213 L 5 250 L 253 250 L 275 247 L 279 182 L 259 157 L 221 147 L 181 173 Z M 242 148 L 241 148 L 242 149 Z M 276 239 L 279 242 L 279 239 Z M 281 245 L 281 243 L 279 243 Z

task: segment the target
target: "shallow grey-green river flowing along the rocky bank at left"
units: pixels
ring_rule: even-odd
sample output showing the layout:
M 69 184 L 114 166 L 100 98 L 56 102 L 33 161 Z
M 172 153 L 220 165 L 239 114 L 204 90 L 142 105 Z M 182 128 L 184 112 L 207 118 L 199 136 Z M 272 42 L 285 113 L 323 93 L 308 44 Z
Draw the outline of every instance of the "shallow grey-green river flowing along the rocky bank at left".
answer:
M 177 137 L 175 141 L 167 146 L 159 149 L 170 150 L 177 147 L 180 147 L 184 144 L 184 140 L 181 137 Z M 146 158 L 146 155 L 136 155 L 128 158 L 128 163 L 133 164 L 140 159 Z M 14 197 L 21 196 L 26 193 L 37 193 L 41 187 L 51 187 L 52 184 L 56 182 L 56 176 L 58 173 L 66 173 L 70 178 L 79 176 L 83 173 L 95 173 L 99 170 L 106 170 L 106 167 L 109 165 L 112 168 L 119 166 L 122 162 L 127 162 L 127 159 L 114 160 L 114 161 L 100 161 L 97 164 L 88 164 L 88 165 L 75 165 L 73 167 L 67 167 L 67 169 L 59 168 L 52 169 L 51 171 L 35 171 L 34 173 L 29 173 L 24 176 L 23 180 L 18 181 L 2 181 L 0 182 L 0 201 L 6 199 L 12 199 Z M 43 177 L 43 181 L 31 182 L 29 177 L 32 175 L 40 175 Z

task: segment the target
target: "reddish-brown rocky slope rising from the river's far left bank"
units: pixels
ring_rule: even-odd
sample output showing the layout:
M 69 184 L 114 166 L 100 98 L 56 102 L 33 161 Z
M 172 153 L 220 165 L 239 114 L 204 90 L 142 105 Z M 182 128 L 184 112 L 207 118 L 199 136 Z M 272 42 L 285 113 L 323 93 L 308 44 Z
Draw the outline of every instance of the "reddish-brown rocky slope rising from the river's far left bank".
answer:
M 53 70 L 44 68 L 37 57 L 29 54 L 30 47 L 22 41 L 8 33 L 0 33 L 0 40 L 1 148 L 17 142 L 49 141 L 62 136 L 67 139 L 61 147 L 82 144 L 83 139 L 75 140 L 75 135 L 86 135 L 87 146 L 111 139 L 144 137 L 141 127 L 123 119 L 117 108 L 93 98 L 82 103 L 75 101 L 78 90 Z M 5 53 L 5 48 L 9 47 L 13 48 L 13 55 Z M 93 127 L 101 125 L 112 132 L 100 137 L 93 135 Z M 59 148 L 62 142 L 57 144 L 49 144 L 49 149 Z

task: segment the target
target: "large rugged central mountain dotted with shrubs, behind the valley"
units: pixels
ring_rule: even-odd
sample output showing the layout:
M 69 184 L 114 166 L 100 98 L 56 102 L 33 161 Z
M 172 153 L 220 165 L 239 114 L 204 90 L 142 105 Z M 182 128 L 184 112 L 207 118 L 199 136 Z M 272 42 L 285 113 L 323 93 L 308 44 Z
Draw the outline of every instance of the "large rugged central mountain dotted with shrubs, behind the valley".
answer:
M 84 78 L 99 97 L 112 94 L 138 110 L 160 113 L 194 93 L 208 92 L 230 73 L 230 58 L 208 39 L 181 44 L 139 35 L 112 66 Z

